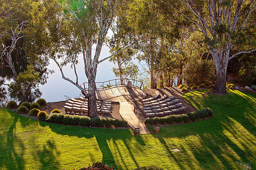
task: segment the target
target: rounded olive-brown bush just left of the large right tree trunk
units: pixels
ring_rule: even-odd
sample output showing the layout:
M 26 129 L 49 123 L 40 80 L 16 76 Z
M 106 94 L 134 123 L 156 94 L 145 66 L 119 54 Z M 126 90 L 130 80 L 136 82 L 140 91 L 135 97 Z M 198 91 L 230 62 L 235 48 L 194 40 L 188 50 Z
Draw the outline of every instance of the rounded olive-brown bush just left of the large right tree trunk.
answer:
M 212 60 L 191 59 L 183 69 L 183 76 L 186 83 L 199 84 L 213 81 L 215 78 L 215 67 Z

